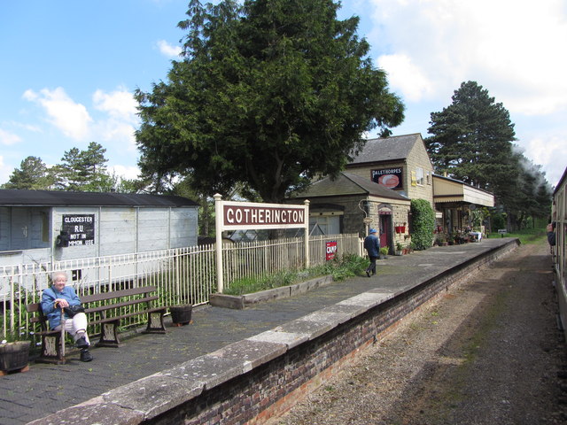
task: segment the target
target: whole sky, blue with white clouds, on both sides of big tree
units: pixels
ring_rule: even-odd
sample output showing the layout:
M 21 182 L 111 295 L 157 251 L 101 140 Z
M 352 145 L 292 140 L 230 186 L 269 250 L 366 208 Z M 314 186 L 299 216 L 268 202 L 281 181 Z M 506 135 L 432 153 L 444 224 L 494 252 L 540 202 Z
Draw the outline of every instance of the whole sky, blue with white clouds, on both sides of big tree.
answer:
M 205 2 L 203 2 L 205 3 Z M 138 173 L 136 89 L 167 81 L 188 0 L 0 2 L 0 183 L 28 156 L 52 166 L 100 143 Z M 517 148 L 555 186 L 567 166 L 567 2 L 344 0 L 406 105 L 393 135 L 428 136 L 431 112 L 477 81 L 515 124 Z M 369 137 L 376 136 L 373 134 Z

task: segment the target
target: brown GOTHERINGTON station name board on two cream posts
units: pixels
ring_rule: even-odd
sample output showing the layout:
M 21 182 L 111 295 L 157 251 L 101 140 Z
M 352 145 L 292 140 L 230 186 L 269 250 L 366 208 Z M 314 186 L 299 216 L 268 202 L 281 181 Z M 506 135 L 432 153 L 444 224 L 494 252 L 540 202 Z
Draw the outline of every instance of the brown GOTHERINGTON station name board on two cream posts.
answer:
M 257 228 L 305 228 L 305 267 L 309 267 L 309 201 L 304 205 L 259 204 L 223 201 L 214 195 L 216 231 L 216 274 L 219 293 L 224 290 L 222 277 L 222 232 Z

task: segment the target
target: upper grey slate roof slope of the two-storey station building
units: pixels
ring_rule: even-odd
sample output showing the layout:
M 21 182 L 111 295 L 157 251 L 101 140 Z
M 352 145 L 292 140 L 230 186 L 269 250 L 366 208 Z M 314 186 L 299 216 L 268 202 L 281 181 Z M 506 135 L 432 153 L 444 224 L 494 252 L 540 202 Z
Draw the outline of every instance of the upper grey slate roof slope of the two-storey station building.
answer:
M 396 161 L 408 158 L 409 152 L 419 139 L 421 139 L 421 134 L 419 133 L 369 139 L 366 141 L 362 151 L 353 158 L 349 165 L 377 161 Z

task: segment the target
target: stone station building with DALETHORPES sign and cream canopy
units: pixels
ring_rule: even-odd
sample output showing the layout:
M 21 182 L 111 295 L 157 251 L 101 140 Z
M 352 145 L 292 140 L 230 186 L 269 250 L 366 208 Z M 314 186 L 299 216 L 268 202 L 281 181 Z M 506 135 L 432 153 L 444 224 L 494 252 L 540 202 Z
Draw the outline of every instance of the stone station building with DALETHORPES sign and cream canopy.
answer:
M 420 134 L 369 139 L 335 180 L 313 182 L 291 202 L 310 201 L 310 228 L 327 235 L 368 234 L 394 251 L 411 242 L 411 199 L 425 199 L 436 213 L 437 231 L 451 234 L 470 225 L 471 209 L 493 206 L 493 194 L 433 173 Z

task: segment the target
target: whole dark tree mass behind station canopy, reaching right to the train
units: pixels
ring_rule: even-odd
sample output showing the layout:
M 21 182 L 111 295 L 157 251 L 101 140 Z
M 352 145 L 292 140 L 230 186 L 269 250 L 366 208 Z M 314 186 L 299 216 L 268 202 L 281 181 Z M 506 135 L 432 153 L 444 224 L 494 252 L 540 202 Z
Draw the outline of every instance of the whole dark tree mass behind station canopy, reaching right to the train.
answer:
M 548 214 L 551 188 L 540 166 L 517 151 L 504 106 L 475 81 L 462 82 L 452 99 L 431 113 L 431 137 L 424 141 L 436 172 L 493 192 L 509 227 Z

